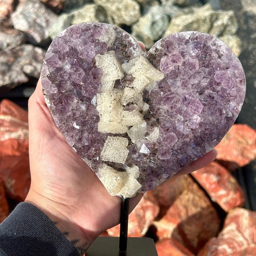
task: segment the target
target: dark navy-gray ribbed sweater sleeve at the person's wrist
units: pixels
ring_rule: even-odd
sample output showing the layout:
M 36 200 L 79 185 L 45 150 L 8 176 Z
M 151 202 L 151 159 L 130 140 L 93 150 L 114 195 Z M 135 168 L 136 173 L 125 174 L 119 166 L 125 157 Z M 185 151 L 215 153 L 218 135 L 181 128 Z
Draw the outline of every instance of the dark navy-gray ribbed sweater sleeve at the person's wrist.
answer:
M 53 222 L 32 204 L 20 203 L 0 224 L 0 256 L 79 256 Z

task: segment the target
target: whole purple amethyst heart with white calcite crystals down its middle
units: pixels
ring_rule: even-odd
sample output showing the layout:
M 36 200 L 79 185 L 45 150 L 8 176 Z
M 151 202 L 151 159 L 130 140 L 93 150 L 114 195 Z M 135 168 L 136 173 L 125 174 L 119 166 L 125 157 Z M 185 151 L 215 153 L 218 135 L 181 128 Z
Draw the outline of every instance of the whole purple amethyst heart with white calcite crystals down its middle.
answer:
M 68 144 L 111 195 L 155 188 L 215 147 L 244 100 L 240 61 L 199 32 L 145 54 L 121 28 L 81 23 L 50 45 L 45 101 Z

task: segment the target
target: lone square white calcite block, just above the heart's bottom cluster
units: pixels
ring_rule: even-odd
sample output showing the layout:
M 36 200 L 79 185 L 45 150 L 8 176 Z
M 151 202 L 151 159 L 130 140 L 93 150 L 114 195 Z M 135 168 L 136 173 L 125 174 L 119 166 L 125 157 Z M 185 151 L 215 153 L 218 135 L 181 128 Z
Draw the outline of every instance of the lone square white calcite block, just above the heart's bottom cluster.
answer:
M 108 136 L 100 157 L 104 161 L 124 164 L 129 153 L 127 146 L 127 138 Z

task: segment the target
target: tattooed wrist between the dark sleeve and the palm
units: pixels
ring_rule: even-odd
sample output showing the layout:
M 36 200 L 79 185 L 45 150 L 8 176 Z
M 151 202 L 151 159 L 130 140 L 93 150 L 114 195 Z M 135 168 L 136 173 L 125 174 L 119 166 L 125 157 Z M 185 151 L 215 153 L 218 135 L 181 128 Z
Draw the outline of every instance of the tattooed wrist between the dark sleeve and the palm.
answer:
M 85 253 L 90 244 L 98 236 L 98 234 L 78 226 L 72 220 L 74 212 L 65 204 L 49 199 L 32 189 L 29 190 L 25 202 L 35 205 L 44 212 L 81 255 Z

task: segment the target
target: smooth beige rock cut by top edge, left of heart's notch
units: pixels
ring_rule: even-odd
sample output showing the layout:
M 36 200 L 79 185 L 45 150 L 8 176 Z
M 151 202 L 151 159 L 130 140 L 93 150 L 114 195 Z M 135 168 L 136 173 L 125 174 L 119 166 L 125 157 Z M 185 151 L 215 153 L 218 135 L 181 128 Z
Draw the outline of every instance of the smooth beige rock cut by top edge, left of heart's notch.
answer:
M 116 24 L 132 25 L 140 18 L 140 4 L 134 0 L 94 0 L 101 5 Z

